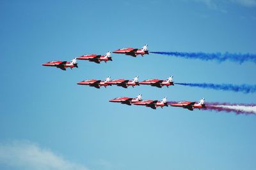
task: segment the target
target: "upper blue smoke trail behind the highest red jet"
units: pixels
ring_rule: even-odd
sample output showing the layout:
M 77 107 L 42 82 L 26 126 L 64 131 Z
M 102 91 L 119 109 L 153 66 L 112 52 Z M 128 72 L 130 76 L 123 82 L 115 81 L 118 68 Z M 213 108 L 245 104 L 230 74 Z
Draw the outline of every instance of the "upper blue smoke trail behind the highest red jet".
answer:
M 239 62 L 239 64 L 245 61 L 251 61 L 256 64 L 256 54 L 252 53 L 189 53 L 189 52 L 150 52 L 158 53 L 162 55 L 173 55 L 175 57 L 184 57 L 185 59 L 201 59 L 201 60 L 218 60 L 223 62 L 225 60 L 230 60 L 234 62 Z

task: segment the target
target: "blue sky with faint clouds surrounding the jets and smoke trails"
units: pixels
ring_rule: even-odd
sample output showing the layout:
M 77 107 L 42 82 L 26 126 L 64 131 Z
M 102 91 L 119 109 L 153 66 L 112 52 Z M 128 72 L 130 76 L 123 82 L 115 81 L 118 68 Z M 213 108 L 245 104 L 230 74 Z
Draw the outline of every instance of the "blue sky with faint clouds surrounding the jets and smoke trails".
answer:
M 174 86 L 95 89 L 85 79 L 140 76 L 256 84 L 255 64 L 112 54 L 152 51 L 256 53 L 256 1 L 0 1 L 0 169 L 255 169 L 254 115 L 109 103 L 119 96 L 255 103 L 255 94 Z

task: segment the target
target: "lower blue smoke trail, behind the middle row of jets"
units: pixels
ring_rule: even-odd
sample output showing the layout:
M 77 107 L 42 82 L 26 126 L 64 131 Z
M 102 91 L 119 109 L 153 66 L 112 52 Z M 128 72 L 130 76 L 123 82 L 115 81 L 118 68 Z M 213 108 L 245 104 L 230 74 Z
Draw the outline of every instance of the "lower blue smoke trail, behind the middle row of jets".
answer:
M 175 85 L 186 85 L 190 87 L 201 87 L 204 89 L 225 90 L 233 92 L 253 93 L 256 92 L 256 85 L 232 85 L 213 83 L 175 83 Z

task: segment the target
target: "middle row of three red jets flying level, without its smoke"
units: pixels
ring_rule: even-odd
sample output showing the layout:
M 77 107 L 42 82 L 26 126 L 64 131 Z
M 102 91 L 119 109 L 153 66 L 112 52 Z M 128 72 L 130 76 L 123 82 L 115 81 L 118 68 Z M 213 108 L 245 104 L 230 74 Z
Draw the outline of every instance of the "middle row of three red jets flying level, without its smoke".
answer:
M 77 83 L 77 85 L 89 85 L 97 89 L 99 89 L 101 86 L 107 87 L 108 85 L 117 85 L 119 87 L 124 87 L 124 88 L 127 88 L 129 86 L 134 87 L 136 85 L 151 85 L 153 87 L 159 87 L 159 88 L 163 86 L 169 87 L 170 85 L 174 85 L 173 76 L 170 76 L 167 80 L 152 79 L 152 80 L 139 81 L 138 78 L 139 76 L 134 77 L 132 80 L 124 80 L 124 79 L 111 80 L 109 76 L 104 81 L 84 80 Z

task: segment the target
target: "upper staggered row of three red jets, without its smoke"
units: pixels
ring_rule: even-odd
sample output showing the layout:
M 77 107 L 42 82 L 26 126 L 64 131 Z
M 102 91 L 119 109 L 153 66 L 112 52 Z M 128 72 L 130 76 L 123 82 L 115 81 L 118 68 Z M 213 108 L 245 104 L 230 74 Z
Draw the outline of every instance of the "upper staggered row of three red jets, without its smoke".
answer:
M 142 48 L 122 48 L 113 51 L 113 53 L 125 53 L 125 55 L 131 55 L 132 57 L 136 57 L 137 55 L 143 56 L 144 54 L 148 54 L 148 45 L 144 45 Z M 42 66 L 52 66 L 57 67 L 62 70 L 66 70 L 67 67 L 70 67 L 72 69 L 73 67 L 77 67 L 76 60 L 88 60 L 90 62 L 95 62 L 97 64 L 100 64 L 100 62 L 104 61 L 107 63 L 109 60 L 112 61 L 111 51 L 105 53 L 104 55 L 97 55 L 97 54 L 88 54 L 88 55 L 82 55 L 80 57 L 76 57 L 75 59 L 71 60 L 71 62 L 67 61 L 51 61 L 46 62 L 42 64 Z

